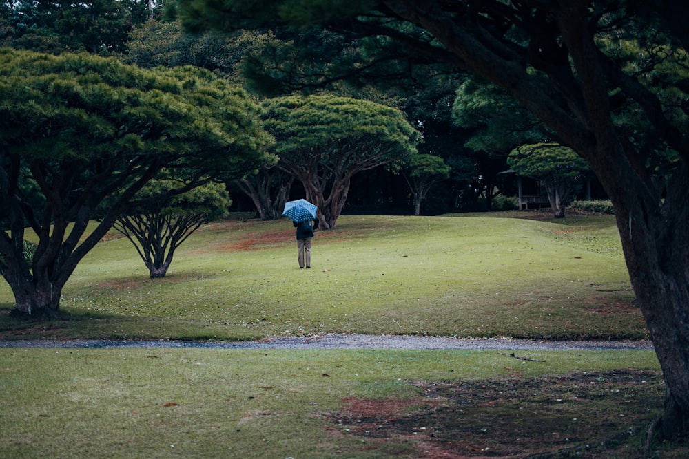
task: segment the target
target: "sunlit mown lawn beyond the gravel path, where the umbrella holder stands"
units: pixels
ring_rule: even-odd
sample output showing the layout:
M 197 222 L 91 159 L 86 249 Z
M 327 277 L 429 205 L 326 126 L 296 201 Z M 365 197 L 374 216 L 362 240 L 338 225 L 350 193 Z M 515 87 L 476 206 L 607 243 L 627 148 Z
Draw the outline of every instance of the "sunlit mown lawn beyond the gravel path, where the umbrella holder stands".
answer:
M 65 287 L 65 322 L 0 315 L 12 337 L 242 340 L 321 333 L 641 339 L 613 217 L 343 216 L 296 263 L 287 220 L 197 231 L 149 279 L 112 237 Z M 0 304 L 12 308 L 6 285 Z

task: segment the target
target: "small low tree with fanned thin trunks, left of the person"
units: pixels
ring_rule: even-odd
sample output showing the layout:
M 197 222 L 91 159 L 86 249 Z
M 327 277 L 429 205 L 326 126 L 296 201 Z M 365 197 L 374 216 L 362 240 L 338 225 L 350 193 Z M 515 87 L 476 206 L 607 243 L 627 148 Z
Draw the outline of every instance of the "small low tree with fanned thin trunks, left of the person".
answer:
M 165 277 L 175 250 L 202 224 L 227 215 L 232 204 L 225 185 L 208 183 L 181 195 L 149 200 L 180 186 L 175 180 L 151 180 L 134 196 L 114 228 L 134 244 L 152 279 Z

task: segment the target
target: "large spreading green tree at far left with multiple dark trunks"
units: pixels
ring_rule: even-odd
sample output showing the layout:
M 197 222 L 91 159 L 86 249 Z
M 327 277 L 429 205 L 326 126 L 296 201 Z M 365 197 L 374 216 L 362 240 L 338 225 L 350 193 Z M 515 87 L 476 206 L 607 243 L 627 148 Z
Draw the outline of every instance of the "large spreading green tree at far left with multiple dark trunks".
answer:
M 241 177 L 271 160 L 270 141 L 258 107 L 209 72 L 0 50 L 0 274 L 17 312 L 58 316 L 74 268 L 119 215 Z M 163 169 L 185 178 L 136 200 Z M 37 248 L 27 261 L 23 242 L 32 239 Z

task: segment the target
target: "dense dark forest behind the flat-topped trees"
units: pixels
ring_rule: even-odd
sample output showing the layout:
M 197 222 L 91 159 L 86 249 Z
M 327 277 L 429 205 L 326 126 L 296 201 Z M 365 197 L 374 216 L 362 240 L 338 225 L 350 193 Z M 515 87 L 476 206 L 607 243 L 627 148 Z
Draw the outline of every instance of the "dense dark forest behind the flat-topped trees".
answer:
M 524 143 L 548 140 L 546 130 L 506 94 L 449 65 L 424 56 L 410 59 L 389 43 L 381 47 L 320 28 L 188 34 L 181 23 L 166 17 L 165 4 L 4 1 L 0 46 L 116 56 L 145 68 L 194 65 L 242 85 L 256 98 L 331 94 L 402 110 L 422 140 L 416 162 L 380 164 L 353 175 L 343 213 L 515 209 L 517 178 L 505 173 L 511 169 L 508 153 Z M 429 165 L 428 160 L 438 163 Z M 582 175 L 571 198 L 605 198 L 597 182 L 586 178 L 592 177 Z M 287 199 L 303 197 L 304 189 L 292 186 L 292 180 L 282 192 Z M 227 186 L 232 211 L 256 210 L 243 192 L 246 184 Z M 544 193 L 534 182 L 524 186 L 525 194 Z M 419 193 L 422 204 L 414 200 Z

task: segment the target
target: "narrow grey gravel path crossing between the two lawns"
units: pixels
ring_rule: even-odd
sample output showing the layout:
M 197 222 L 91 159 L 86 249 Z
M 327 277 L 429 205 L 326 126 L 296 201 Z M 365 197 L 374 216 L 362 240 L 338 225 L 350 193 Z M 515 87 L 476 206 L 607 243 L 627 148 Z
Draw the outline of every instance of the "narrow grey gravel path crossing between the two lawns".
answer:
M 652 350 L 650 341 L 531 341 L 370 334 L 323 334 L 271 337 L 261 341 L 200 343 L 191 341 L 20 340 L 0 341 L 0 348 L 196 348 L 196 349 L 466 349 L 466 350 Z

